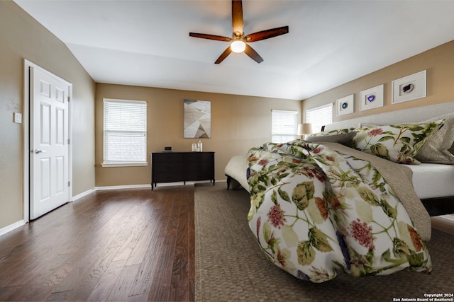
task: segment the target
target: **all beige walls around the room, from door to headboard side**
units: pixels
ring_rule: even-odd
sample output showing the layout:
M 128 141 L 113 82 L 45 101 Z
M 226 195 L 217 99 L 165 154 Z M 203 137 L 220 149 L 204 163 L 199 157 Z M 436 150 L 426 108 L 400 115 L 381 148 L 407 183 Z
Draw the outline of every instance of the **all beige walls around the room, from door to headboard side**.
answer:
M 13 112 L 23 112 L 23 59 L 28 59 L 73 84 L 72 177 L 73 195 L 76 195 L 95 185 L 150 183 L 150 165 L 101 168 L 103 98 L 148 102 L 148 153 L 160 151 L 164 146 L 172 146 L 177 151 L 189 151 L 196 139 L 183 138 L 183 100 L 210 100 L 212 137 L 202 141 L 204 150 L 216 152 L 216 179 L 222 180 L 225 179 L 223 169 L 231 156 L 245 153 L 250 147 L 270 141 L 272 109 L 305 110 L 333 103 L 337 98 L 355 93 L 355 113 L 335 116 L 334 121 L 338 121 L 454 101 L 453 54 L 454 41 L 304 100 L 302 105 L 297 100 L 102 83 L 95 86 L 94 81 L 57 37 L 13 1 L 0 1 L 0 228 L 23 219 L 24 130 L 22 124 L 13 123 Z M 391 81 L 423 69 L 427 69 L 427 98 L 392 105 Z M 384 107 L 360 112 L 359 92 L 382 83 Z

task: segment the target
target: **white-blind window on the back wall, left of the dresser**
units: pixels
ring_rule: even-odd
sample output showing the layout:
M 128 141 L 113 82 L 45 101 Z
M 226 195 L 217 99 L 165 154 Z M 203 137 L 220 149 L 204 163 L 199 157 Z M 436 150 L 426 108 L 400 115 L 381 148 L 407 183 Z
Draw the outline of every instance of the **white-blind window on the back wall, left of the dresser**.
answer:
M 147 103 L 104 99 L 104 163 L 147 164 Z

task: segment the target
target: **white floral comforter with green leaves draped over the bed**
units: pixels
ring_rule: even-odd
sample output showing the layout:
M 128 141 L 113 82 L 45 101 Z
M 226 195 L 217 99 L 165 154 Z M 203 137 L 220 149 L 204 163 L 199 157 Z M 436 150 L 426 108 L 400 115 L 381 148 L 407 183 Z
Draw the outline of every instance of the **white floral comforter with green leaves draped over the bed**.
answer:
M 328 281 L 431 258 L 399 198 L 370 162 L 322 144 L 264 144 L 248 153 L 248 221 L 266 257 L 299 279 Z

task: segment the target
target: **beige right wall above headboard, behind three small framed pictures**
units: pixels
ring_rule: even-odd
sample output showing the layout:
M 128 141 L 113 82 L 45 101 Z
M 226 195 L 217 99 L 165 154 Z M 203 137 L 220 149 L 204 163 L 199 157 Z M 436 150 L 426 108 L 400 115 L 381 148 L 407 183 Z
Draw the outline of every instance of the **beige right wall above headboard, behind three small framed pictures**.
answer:
M 392 104 L 391 83 L 416 72 L 427 70 L 427 97 L 407 102 Z M 360 91 L 384 84 L 384 105 L 360 111 Z M 346 95 L 355 94 L 355 111 L 350 115 L 336 117 L 336 108 L 333 108 L 333 122 L 348 120 L 353 117 L 375 115 L 405 108 L 448 103 L 454 101 L 454 41 L 445 43 L 431 50 L 418 54 L 404 61 L 392 64 L 362 76 L 360 79 L 350 81 L 344 85 L 333 88 L 303 101 L 302 108 L 307 110 L 327 103 L 335 103 L 336 99 Z M 304 111 L 303 111 L 304 112 Z

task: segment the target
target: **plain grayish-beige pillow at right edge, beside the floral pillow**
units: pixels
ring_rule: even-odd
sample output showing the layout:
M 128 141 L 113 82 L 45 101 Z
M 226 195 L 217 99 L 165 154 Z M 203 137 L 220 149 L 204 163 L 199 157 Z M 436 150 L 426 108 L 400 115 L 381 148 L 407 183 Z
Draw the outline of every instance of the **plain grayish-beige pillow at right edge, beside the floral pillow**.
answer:
M 433 117 L 425 122 L 445 119 L 444 126 L 429 137 L 415 158 L 421 163 L 454 164 L 454 113 Z

